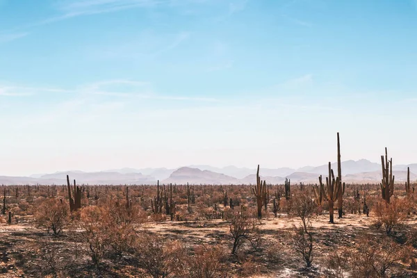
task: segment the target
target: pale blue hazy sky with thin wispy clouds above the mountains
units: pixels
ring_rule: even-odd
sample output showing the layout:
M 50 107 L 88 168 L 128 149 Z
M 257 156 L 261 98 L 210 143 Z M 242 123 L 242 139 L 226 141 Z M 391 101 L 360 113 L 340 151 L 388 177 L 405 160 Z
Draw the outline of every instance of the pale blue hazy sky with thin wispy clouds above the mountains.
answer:
M 417 1 L 0 0 L 0 175 L 417 162 Z

